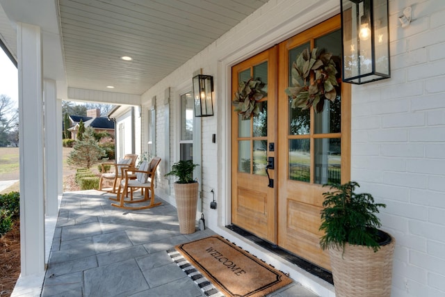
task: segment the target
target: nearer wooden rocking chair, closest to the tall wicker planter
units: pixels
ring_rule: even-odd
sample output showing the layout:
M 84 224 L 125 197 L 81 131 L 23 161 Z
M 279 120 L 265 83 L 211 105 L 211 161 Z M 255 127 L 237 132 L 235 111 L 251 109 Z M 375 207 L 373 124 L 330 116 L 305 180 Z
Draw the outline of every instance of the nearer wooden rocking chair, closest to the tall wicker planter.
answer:
M 113 207 L 120 207 L 122 209 L 147 209 L 161 205 L 161 202 L 154 202 L 154 175 L 156 168 L 161 162 L 159 156 L 153 157 L 152 161 L 143 161 L 137 170 L 123 169 L 122 180 L 118 188 L 117 198 L 109 198 L 120 202 L 119 204 L 112 203 Z M 136 179 L 129 175 L 129 171 L 136 173 Z M 143 198 L 133 199 L 133 191 L 140 188 L 143 192 Z M 145 190 L 145 191 L 144 191 Z M 127 198 L 127 193 L 130 191 L 130 198 Z M 141 207 L 126 206 L 126 203 L 137 203 L 151 200 L 150 204 Z

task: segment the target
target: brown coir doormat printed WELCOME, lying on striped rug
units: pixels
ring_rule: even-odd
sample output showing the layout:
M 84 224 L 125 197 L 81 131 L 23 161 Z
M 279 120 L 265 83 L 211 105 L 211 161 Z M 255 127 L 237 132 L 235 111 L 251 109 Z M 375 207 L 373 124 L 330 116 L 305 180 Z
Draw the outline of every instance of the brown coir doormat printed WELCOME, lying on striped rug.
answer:
M 292 282 L 284 273 L 218 235 L 175 248 L 226 296 L 266 296 Z

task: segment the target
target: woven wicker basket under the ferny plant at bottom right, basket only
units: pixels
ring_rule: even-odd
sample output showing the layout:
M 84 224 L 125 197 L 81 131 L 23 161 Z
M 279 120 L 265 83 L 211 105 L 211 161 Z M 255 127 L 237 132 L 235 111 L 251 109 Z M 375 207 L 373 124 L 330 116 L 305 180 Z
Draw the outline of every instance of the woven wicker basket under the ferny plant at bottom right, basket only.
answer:
M 391 296 L 395 244 L 391 237 L 391 242 L 380 246 L 377 252 L 349 243 L 346 243 L 344 253 L 342 249 L 330 248 L 335 296 Z

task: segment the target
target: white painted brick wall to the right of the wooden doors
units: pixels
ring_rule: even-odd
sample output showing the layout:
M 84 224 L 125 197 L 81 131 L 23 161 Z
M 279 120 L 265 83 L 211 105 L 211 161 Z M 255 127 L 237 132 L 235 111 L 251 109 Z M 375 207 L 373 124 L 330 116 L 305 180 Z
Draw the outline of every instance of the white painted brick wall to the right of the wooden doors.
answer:
M 353 88 L 352 179 L 387 204 L 392 295 L 445 296 L 445 1 L 406 2 L 389 2 L 413 11 L 391 22 L 391 79 Z

